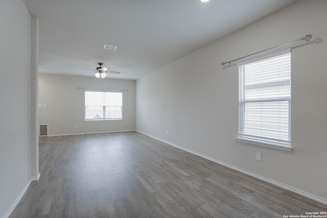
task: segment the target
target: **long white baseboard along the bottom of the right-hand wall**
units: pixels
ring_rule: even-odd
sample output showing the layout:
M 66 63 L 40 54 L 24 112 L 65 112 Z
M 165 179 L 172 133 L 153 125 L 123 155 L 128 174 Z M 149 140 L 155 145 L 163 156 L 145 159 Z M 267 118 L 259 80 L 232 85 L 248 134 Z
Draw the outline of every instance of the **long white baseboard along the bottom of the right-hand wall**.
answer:
M 263 176 L 260 176 L 260 175 L 258 175 L 258 174 L 251 173 L 251 172 L 249 172 L 249 171 L 246 171 L 245 169 L 242 169 L 242 168 L 239 168 L 239 167 L 237 167 L 237 166 L 233 166 L 233 165 L 230 165 L 230 164 L 228 164 L 228 163 L 225 163 L 225 162 L 222 162 L 222 161 L 216 160 L 216 159 L 211 158 L 211 157 L 208 157 L 208 156 L 206 156 L 206 155 L 203 155 L 203 154 L 200 154 L 200 153 L 194 152 L 194 151 L 192 151 L 192 150 L 190 150 L 190 149 L 186 149 L 186 148 L 183 148 L 183 147 L 177 146 L 177 144 L 171 143 L 171 142 L 166 141 L 166 140 L 162 140 L 162 139 L 160 139 L 160 138 L 154 137 L 154 136 L 149 135 L 149 134 L 146 134 L 146 133 L 144 133 L 144 132 L 140 132 L 140 131 L 138 131 L 138 130 L 136 130 L 136 132 L 139 132 L 139 133 L 141 133 L 141 134 L 144 134 L 144 135 L 150 136 L 151 138 L 155 138 L 155 139 L 157 139 L 157 140 L 159 140 L 159 141 L 162 141 L 162 142 L 165 142 L 165 143 L 169 144 L 170 146 L 173 146 L 173 147 L 176 147 L 176 148 L 178 148 L 178 149 L 184 150 L 184 151 L 186 151 L 186 152 L 192 153 L 192 154 L 197 155 L 197 156 L 199 156 L 199 157 L 202 157 L 202 158 L 204 158 L 204 159 L 211 160 L 211 161 L 213 161 L 213 162 L 215 162 L 215 163 L 218 163 L 218 164 L 221 164 L 221 165 L 223 165 L 223 166 L 227 166 L 228 168 L 235 169 L 236 171 L 239 171 L 239 172 L 241 172 L 241 173 L 247 174 L 247 175 L 249 175 L 249 176 L 255 177 L 255 178 L 260 179 L 260 180 L 263 180 L 263 181 L 265 181 L 265 182 L 269 182 L 269 183 L 274 184 L 274 185 L 276 185 L 276 186 L 279 186 L 279 187 L 285 188 L 285 189 L 287 189 L 287 190 L 289 190 L 289 191 L 293 191 L 293 192 L 295 192 L 295 193 L 298 193 L 298 194 L 301 195 L 301 196 L 305 196 L 305 197 L 307 197 L 307 198 L 310 198 L 310 199 L 315 200 L 315 201 L 317 201 L 317 202 L 320 202 L 320 203 L 322 203 L 322 204 L 327 204 L 327 200 L 326 200 L 326 199 L 320 198 L 319 196 L 312 195 L 311 193 L 308 193 L 308 192 L 306 192 L 306 191 L 302 191 L 302 190 L 300 190 L 300 189 L 297 189 L 297 188 L 294 188 L 294 187 L 292 187 L 292 186 L 289 186 L 289 185 L 283 184 L 283 183 L 281 183 L 281 182 L 278 182 L 278 181 L 275 181 L 275 180 L 269 179 L 269 178 L 267 178 L 267 177 L 263 177 Z

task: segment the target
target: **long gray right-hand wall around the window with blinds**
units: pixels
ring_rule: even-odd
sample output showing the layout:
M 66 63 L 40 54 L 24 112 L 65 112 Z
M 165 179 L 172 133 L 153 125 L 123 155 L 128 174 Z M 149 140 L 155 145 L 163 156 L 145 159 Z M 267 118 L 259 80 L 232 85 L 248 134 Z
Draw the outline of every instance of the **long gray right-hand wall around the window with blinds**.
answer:
M 137 80 L 136 130 L 327 202 L 326 12 L 327 1 L 299 1 Z M 221 62 L 307 34 L 322 42 L 293 44 L 294 150 L 236 142 L 238 67 Z

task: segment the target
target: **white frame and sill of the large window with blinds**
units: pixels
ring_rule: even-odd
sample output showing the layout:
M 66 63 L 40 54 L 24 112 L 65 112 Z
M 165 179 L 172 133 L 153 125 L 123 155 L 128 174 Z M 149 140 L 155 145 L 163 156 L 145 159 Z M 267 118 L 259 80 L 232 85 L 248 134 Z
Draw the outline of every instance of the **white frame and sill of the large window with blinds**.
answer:
M 281 55 L 285 55 L 285 54 L 290 54 L 291 55 L 291 50 L 287 49 L 287 50 L 283 50 L 283 51 L 279 51 L 279 52 L 274 52 L 274 53 L 270 53 L 268 55 L 263 55 L 263 56 L 256 56 L 255 58 L 248 58 L 245 61 L 239 62 L 238 63 L 238 69 L 239 67 L 244 67 L 244 65 L 246 64 L 250 64 L 250 63 L 254 63 L 254 62 L 258 62 L 258 61 L 263 61 L 266 59 L 270 59 L 270 58 L 274 58 L 274 57 L 278 57 Z M 292 61 L 291 61 L 291 57 L 290 57 L 290 65 L 291 65 Z M 243 70 L 244 72 L 244 70 Z M 290 72 L 291 74 L 291 72 Z M 240 72 L 239 72 L 239 81 L 240 81 Z M 268 148 L 273 148 L 273 149 L 278 149 L 278 150 L 283 150 L 283 151 L 291 151 L 293 149 L 292 145 L 291 145 L 291 75 L 290 75 L 290 95 L 289 97 L 284 97 L 284 98 L 269 98 L 269 99 L 265 99 L 265 98 L 260 98 L 260 99 L 255 99 L 255 100 L 243 100 L 243 102 L 241 101 L 241 86 L 240 84 L 238 85 L 239 87 L 239 124 L 238 124 L 238 137 L 236 137 L 237 141 L 239 142 L 244 142 L 244 143 L 249 143 L 249 144 L 254 144 L 256 146 L 262 146 L 262 147 L 268 147 Z M 276 140 L 270 140 L 269 138 L 265 138 L 265 137 L 252 137 L 252 136 L 248 136 L 245 135 L 242 131 L 242 128 L 244 128 L 244 116 L 245 116 L 245 104 L 249 103 L 249 102 L 258 102 L 258 103 L 263 103 L 263 102 L 285 102 L 288 101 L 288 140 L 284 141 L 284 140 L 280 140 L 279 142 Z M 242 108 L 243 107 L 243 110 Z

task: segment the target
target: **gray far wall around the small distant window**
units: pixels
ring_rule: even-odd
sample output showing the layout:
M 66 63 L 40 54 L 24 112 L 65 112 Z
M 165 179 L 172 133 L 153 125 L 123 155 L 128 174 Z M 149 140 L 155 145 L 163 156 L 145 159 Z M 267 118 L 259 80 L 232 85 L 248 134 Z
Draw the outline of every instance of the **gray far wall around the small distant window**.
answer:
M 123 91 L 123 120 L 84 121 L 84 89 Z M 135 81 L 39 74 L 39 124 L 49 135 L 135 130 Z M 43 107 L 46 104 L 46 107 Z M 78 128 L 75 128 L 78 125 Z

